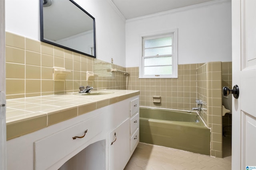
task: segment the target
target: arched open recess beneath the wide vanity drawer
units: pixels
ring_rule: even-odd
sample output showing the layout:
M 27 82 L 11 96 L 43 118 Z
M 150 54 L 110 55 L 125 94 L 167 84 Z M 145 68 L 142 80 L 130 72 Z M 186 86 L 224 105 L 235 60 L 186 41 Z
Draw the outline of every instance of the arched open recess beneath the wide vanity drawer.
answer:
M 58 170 L 104 170 L 106 169 L 106 141 L 92 143 L 65 162 Z

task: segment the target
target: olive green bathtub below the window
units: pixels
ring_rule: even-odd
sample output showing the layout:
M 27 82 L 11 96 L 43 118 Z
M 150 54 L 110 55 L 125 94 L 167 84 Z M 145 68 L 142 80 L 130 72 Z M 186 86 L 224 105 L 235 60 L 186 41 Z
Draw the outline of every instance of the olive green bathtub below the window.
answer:
M 140 107 L 140 142 L 210 155 L 210 129 L 196 112 Z

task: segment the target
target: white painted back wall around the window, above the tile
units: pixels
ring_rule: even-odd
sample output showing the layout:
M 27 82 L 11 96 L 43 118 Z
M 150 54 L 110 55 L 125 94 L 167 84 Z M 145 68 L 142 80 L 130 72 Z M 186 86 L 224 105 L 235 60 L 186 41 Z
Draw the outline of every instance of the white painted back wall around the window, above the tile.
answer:
M 141 37 L 178 28 L 178 64 L 232 61 L 231 0 L 126 20 L 126 67 L 139 66 Z

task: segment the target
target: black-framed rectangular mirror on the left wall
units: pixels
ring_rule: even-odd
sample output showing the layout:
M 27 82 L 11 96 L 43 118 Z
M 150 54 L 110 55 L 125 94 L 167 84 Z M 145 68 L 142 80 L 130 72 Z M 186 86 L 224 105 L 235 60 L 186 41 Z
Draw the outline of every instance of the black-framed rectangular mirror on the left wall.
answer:
M 96 58 L 95 18 L 73 0 L 40 0 L 40 40 Z

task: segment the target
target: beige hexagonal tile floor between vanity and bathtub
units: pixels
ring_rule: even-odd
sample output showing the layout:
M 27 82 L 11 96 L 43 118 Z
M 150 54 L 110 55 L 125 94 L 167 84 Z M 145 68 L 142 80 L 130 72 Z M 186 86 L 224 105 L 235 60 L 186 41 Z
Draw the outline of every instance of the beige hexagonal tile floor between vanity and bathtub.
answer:
M 139 143 L 124 170 L 231 170 L 231 156 L 213 158 Z

